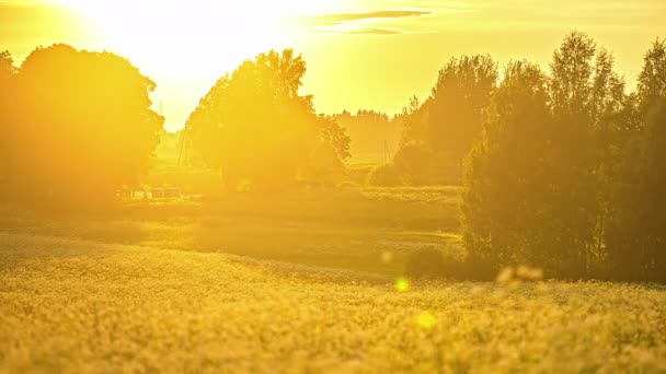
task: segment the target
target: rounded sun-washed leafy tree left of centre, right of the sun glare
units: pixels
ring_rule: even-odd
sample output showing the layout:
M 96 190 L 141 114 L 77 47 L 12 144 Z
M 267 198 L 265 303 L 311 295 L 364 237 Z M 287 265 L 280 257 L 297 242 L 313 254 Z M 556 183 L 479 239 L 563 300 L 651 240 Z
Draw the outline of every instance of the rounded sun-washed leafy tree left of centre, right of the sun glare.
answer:
M 279 188 L 317 164 L 310 159 L 322 148 L 348 156 L 340 126 L 299 95 L 305 73 L 305 60 L 290 49 L 261 54 L 221 78 L 191 114 L 188 136 L 207 164 L 221 167 L 228 189 L 242 179 Z

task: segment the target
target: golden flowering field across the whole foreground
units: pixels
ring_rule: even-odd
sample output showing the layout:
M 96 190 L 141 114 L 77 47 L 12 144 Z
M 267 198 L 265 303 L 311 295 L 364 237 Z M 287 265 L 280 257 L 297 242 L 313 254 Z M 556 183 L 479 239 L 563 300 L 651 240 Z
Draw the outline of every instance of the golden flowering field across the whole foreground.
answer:
M 0 372 L 664 372 L 664 331 L 663 285 L 421 283 L 0 233 Z

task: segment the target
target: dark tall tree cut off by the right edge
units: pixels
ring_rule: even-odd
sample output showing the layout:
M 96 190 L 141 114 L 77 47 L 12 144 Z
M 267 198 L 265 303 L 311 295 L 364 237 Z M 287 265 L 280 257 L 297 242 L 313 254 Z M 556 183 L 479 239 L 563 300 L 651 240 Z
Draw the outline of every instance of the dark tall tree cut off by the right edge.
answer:
M 622 162 L 613 180 L 613 215 L 607 244 L 613 271 L 627 280 L 666 279 L 666 45 L 644 57 L 632 97 Z M 630 120 L 632 119 L 633 120 Z

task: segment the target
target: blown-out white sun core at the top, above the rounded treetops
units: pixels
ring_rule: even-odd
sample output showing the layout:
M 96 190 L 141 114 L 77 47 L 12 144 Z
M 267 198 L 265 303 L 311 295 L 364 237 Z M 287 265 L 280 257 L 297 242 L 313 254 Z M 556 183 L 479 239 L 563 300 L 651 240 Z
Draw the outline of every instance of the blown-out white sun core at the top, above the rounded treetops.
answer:
M 332 0 L 49 0 L 90 25 L 97 46 L 154 71 L 230 69 L 295 38 L 289 22 L 325 12 Z M 337 2 L 340 5 L 340 2 Z M 197 56 L 205 59 L 193 61 Z M 196 73 L 196 71 L 195 71 Z

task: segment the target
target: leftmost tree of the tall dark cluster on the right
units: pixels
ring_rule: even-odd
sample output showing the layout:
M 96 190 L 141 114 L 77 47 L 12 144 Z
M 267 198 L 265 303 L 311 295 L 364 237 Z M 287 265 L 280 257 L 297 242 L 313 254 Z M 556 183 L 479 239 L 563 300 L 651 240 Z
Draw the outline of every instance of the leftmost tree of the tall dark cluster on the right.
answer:
M 473 265 L 548 264 L 560 219 L 549 174 L 556 162 L 548 78 L 538 66 L 510 62 L 493 95 L 482 141 L 467 163 L 463 241 Z

